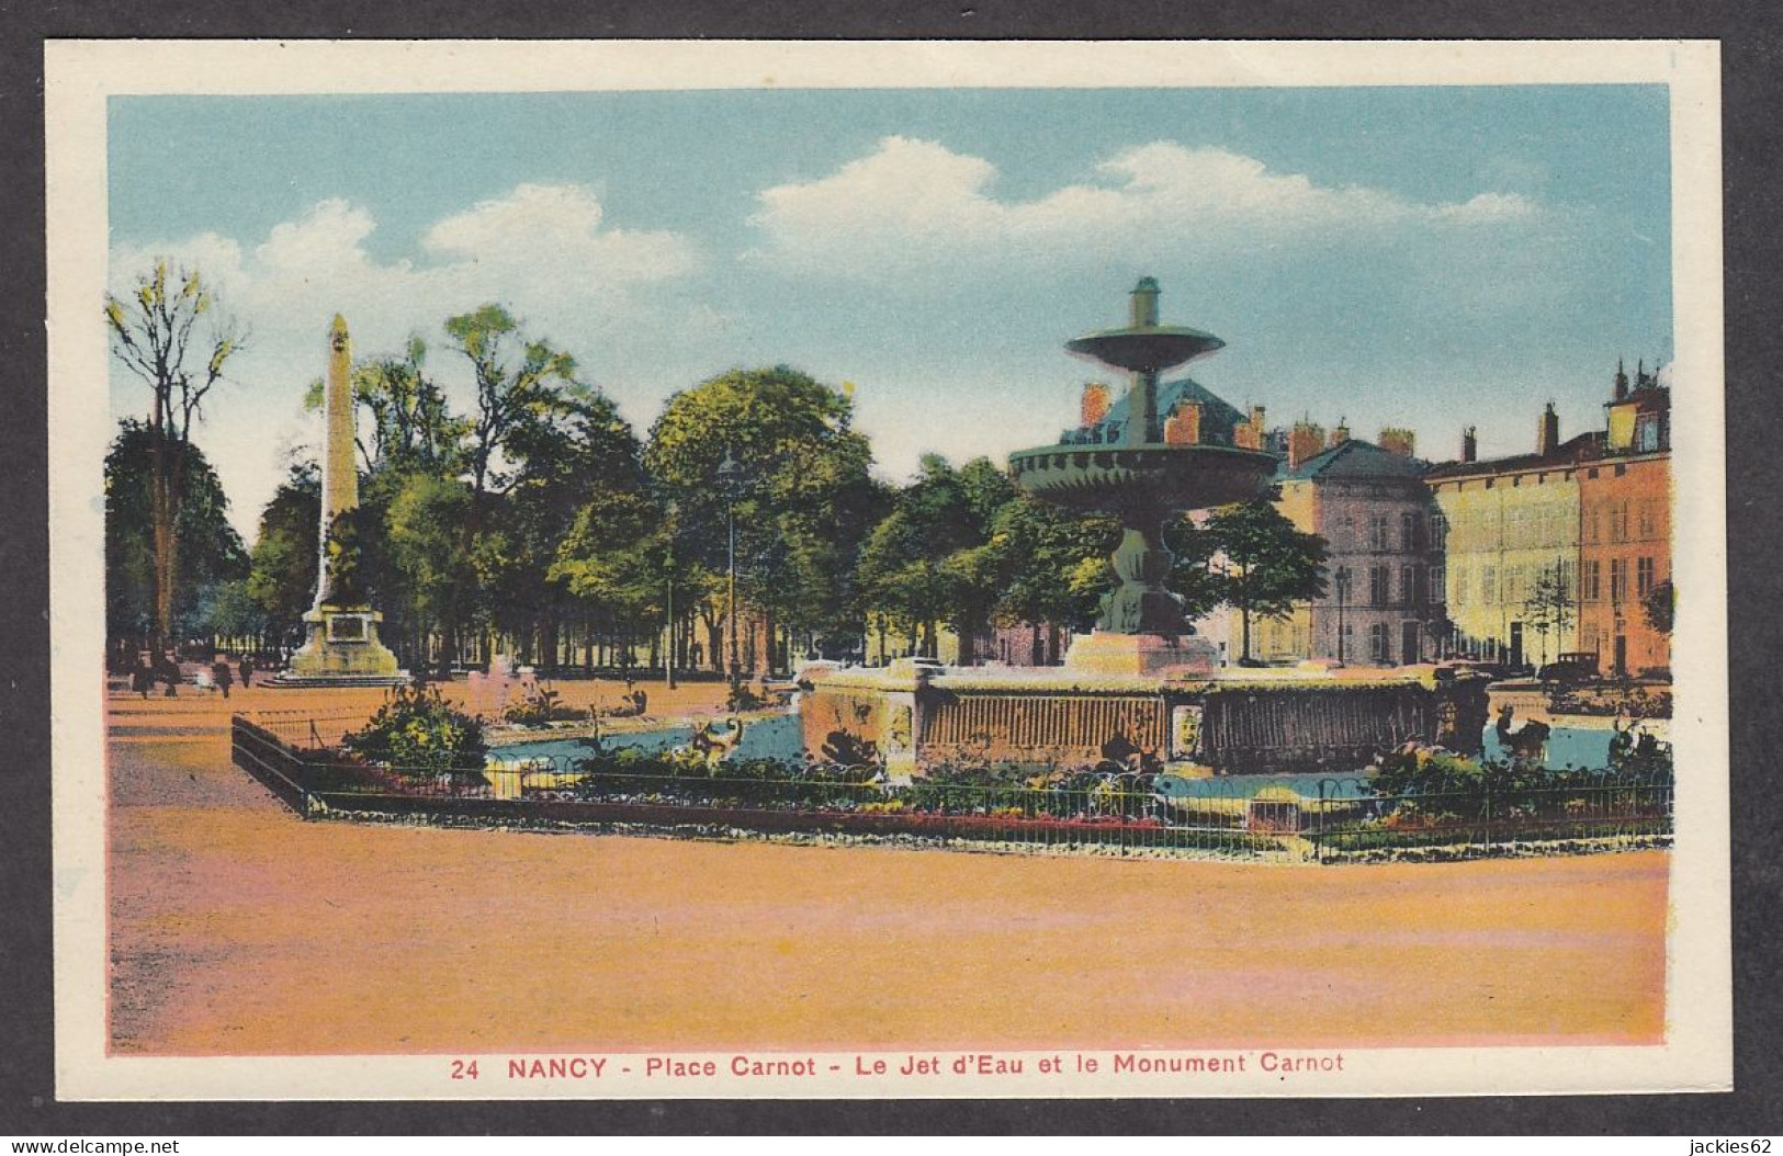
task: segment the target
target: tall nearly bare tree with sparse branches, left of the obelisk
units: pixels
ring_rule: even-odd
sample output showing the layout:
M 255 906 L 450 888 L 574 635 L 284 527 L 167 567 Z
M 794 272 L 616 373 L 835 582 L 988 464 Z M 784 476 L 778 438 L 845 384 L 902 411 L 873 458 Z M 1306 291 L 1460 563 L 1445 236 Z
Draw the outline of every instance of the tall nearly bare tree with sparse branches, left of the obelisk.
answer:
M 187 501 L 193 424 L 205 395 L 242 349 L 244 331 L 225 313 L 196 269 L 169 271 L 157 260 L 128 297 L 105 294 L 112 354 L 150 392 L 148 509 L 153 538 L 153 629 L 157 645 L 173 632 L 180 579 L 178 522 Z

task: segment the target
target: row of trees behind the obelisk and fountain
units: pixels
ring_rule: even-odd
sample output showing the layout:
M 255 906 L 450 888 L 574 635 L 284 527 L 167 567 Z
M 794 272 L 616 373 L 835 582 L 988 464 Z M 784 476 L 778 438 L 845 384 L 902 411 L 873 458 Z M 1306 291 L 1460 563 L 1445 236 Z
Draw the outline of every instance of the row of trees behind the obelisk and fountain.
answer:
M 285 643 L 314 597 L 316 463 L 292 463 L 244 550 L 191 442 L 203 390 L 241 340 L 226 322 L 194 337 L 216 313 L 196 274 L 157 265 L 141 289 L 139 310 L 107 301 L 118 356 L 153 385 L 152 419 L 125 422 L 107 461 L 118 650 L 193 636 Z M 736 600 L 781 663 L 856 650 L 874 629 L 933 654 L 941 627 L 972 661 L 988 625 L 1084 627 L 1109 588 L 1113 518 L 1034 502 L 982 458 L 925 458 L 909 484 L 888 486 L 870 474 L 849 397 L 795 369 L 686 388 L 640 438 L 569 353 L 505 308 L 451 317 L 440 335 L 440 353 L 471 372 L 465 406 L 435 381 L 419 337 L 353 367 L 355 582 L 410 668 L 449 670 L 496 647 L 546 668 L 654 664 L 667 641 L 679 666 L 722 670 L 733 525 Z M 205 369 L 187 372 L 198 360 Z M 310 394 L 319 404 L 319 381 Z M 1248 622 L 1319 593 L 1323 543 L 1268 502 L 1202 529 L 1184 520 L 1171 547 L 1171 586 L 1191 613 L 1228 602 Z

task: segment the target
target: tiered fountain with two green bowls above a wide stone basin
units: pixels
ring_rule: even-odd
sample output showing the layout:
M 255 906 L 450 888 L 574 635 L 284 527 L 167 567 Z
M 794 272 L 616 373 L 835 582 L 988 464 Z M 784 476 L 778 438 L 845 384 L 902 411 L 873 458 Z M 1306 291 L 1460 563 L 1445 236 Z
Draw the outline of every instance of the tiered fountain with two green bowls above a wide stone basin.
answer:
M 1262 497 L 1278 461 L 1232 445 L 1166 444 L 1157 379 L 1223 342 L 1157 321 L 1157 281 L 1132 290 L 1129 324 L 1066 349 L 1132 376 L 1111 444 L 1061 442 L 1009 456 L 1016 484 L 1125 533 L 1120 579 L 1059 668 L 945 668 L 904 659 L 815 679 L 801 700 L 806 750 L 884 762 L 893 777 L 938 764 L 1073 768 L 1127 761 L 1177 775 L 1353 773 L 1409 739 L 1476 752 L 1485 684 L 1428 666 L 1221 668 L 1164 588 L 1168 518 Z

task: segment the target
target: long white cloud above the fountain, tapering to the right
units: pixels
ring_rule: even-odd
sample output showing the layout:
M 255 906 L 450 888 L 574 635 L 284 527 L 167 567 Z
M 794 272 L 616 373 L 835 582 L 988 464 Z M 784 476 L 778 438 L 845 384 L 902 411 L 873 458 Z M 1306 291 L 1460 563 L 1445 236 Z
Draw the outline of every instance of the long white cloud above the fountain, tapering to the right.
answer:
M 1072 251 L 1157 260 L 1161 251 L 1205 256 L 1387 226 L 1491 226 L 1539 214 L 1514 192 L 1421 203 L 1385 189 L 1321 185 L 1228 150 L 1170 141 L 1125 150 L 1097 166 L 1093 182 L 1032 201 L 997 199 L 995 180 L 984 159 L 886 137 L 829 176 L 763 191 L 752 217 L 763 244 L 751 256 L 833 276 L 961 269 L 970 258 L 1020 267 Z

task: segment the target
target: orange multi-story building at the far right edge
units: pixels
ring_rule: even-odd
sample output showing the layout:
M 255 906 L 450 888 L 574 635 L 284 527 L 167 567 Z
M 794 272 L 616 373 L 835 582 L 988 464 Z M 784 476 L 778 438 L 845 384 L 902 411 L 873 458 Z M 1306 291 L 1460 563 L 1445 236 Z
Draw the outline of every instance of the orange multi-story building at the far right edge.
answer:
M 1665 672 L 1671 638 L 1647 606 L 1671 582 L 1671 390 L 1646 367 L 1630 388 L 1619 365 L 1605 410 L 1603 458 L 1580 474 L 1578 647 L 1605 673 Z

